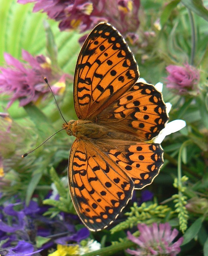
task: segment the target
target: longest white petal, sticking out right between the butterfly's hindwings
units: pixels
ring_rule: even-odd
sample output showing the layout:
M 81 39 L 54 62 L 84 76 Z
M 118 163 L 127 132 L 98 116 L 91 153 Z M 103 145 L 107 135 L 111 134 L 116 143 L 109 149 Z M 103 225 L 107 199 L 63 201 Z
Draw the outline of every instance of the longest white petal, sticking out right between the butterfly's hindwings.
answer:
M 186 122 L 184 120 L 174 120 L 170 123 L 167 123 L 165 128 L 159 133 L 159 135 L 153 139 L 154 143 L 161 143 L 165 136 L 170 135 L 171 133 L 177 132 L 186 126 Z

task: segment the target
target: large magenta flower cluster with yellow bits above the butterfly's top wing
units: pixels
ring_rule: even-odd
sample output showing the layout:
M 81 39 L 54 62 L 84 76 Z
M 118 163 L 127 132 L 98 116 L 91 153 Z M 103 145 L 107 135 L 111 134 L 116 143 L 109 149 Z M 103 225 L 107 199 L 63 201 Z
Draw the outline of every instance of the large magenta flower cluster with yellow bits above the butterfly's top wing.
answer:
M 35 2 L 34 12 L 42 10 L 49 18 L 59 21 L 60 30 L 79 27 L 84 32 L 105 21 L 126 35 L 139 26 L 140 0 L 18 0 L 20 4 L 29 2 Z

